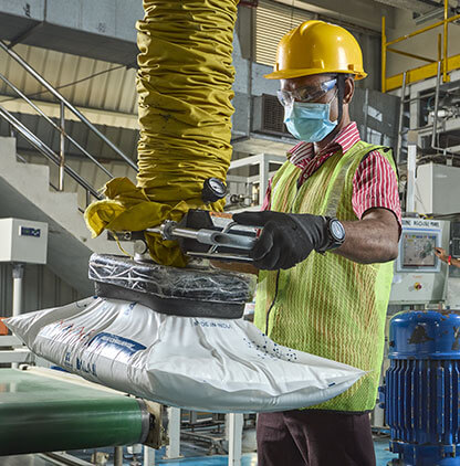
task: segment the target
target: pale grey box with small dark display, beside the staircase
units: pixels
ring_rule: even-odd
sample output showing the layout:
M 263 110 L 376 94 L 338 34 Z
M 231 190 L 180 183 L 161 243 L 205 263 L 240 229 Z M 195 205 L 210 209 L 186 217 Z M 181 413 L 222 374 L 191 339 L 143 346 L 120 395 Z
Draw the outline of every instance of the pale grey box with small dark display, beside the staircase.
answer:
M 46 264 L 48 223 L 0 219 L 0 262 Z

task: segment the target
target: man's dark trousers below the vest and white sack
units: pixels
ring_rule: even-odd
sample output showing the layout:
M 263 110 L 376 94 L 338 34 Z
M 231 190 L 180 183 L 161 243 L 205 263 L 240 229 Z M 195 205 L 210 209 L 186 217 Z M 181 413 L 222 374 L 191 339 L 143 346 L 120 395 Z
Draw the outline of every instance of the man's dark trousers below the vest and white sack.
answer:
M 258 466 L 375 466 L 368 414 L 261 413 Z

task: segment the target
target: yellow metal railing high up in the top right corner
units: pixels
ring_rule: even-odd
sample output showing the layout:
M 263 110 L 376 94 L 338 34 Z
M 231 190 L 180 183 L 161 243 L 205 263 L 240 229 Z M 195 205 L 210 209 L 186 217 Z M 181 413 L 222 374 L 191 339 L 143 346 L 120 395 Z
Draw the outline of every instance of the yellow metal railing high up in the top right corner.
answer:
M 393 91 L 402 86 L 404 74 L 406 73 L 406 84 L 415 83 L 416 81 L 427 80 L 433 77 L 437 74 L 437 63 L 441 62 L 442 81 L 446 83 L 449 81 L 448 73 L 452 70 L 460 67 L 460 54 L 453 56 L 447 56 L 447 47 L 449 40 L 449 23 L 452 21 L 460 20 L 460 14 L 456 14 L 449 18 L 449 0 L 445 0 L 445 15 L 441 21 L 433 24 L 427 25 L 426 28 L 419 29 L 411 32 L 410 34 L 402 35 L 398 39 L 387 42 L 385 31 L 385 17 L 381 17 L 381 92 Z M 415 38 L 416 35 L 422 34 L 424 32 L 431 31 L 435 28 L 443 27 L 443 34 L 438 34 L 438 57 L 437 60 L 429 59 L 414 53 L 405 52 L 401 50 L 394 49 L 399 42 L 407 39 Z M 405 73 L 396 74 L 387 77 L 387 52 L 397 53 L 399 55 L 409 56 L 410 59 L 421 60 L 428 62 L 427 65 L 419 66 L 412 70 L 408 70 Z

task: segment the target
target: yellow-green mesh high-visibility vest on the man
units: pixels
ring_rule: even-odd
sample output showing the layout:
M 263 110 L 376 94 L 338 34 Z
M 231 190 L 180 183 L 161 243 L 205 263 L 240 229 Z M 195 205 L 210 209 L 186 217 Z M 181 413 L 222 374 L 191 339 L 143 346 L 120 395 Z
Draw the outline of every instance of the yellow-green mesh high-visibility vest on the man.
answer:
M 358 220 L 353 178 L 372 150 L 390 162 L 391 151 L 356 142 L 330 157 L 299 189 L 301 169 L 289 160 L 272 181 L 271 209 L 278 212 Z M 313 252 L 288 271 L 261 271 L 254 324 L 280 345 L 369 371 L 343 394 L 312 409 L 372 410 L 384 353 L 385 320 L 393 262 L 358 264 L 332 252 Z

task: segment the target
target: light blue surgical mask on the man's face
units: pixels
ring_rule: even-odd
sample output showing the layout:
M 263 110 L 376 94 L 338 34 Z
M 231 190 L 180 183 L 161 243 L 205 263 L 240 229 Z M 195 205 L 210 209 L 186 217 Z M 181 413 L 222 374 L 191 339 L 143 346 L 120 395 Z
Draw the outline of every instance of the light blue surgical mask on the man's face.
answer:
M 330 112 L 331 102 L 327 104 L 294 102 L 284 107 L 284 123 L 294 138 L 317 142 L 337 126 L 337 120 L 330 120 Z

